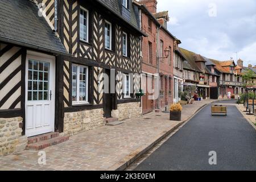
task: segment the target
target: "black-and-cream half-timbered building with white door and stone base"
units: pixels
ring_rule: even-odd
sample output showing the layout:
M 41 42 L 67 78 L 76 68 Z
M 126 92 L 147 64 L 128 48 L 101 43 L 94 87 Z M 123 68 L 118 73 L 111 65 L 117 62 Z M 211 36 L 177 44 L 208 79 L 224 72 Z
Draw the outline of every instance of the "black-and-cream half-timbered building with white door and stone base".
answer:
M 131 0 L 3 0 L 0 10 L 0 155 L 27 137 L 141 115 L 145 34 Z

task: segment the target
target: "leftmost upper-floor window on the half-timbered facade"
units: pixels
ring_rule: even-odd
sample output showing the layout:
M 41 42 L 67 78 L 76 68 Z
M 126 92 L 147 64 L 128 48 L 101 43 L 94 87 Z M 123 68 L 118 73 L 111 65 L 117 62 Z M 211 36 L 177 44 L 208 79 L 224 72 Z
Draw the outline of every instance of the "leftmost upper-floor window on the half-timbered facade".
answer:
M 80 40 L 88 42 L 89 13 L 83 7 L 80 8 Z

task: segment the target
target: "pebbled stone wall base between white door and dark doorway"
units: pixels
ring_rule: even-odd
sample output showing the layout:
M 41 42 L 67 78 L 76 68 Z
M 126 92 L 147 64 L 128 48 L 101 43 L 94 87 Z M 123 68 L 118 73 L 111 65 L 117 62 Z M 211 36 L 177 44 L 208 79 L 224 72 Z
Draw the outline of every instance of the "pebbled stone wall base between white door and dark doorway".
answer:
M 93 109 L 65 113 L 64 135 L 76 135 L 82 131 L 95 129 L 106 124 L 103 109 Z

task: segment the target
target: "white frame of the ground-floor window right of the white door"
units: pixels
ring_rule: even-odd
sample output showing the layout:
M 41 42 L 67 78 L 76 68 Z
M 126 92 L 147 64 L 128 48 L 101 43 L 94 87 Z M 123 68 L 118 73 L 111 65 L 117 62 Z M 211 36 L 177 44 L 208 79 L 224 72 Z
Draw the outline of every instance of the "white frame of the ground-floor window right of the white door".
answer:
M 81 104 L 89 104 L 88 102 L 88 67 L 85 65 L 79 65 L 79 64 L 72 64 L 72 92 L 73 92 L 73 66 L 77 67 L 77 73 L 76 73 L 76 101 L 72 101 L 72 105 L 81 105 Z M 80 68 L 86 68 L 86 89 L 85 89 L 85 95 L 86 95 L 86 101 L 79 101 L 79 89 L 80 89 Z M 73 93 L 72 93 L 72 97 L 73 97 Z

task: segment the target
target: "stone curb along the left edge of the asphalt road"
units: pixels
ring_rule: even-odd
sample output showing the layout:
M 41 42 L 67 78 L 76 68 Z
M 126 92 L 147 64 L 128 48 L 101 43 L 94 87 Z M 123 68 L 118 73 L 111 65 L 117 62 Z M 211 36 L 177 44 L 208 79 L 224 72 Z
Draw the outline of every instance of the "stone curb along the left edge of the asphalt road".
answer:
M 213 102 L 215 102 L 215 101 L 213 101 Z M 210 102 L 209 104 L 211 104 L 211 103 L 212 102 Z M 137 150 L 135 150 L 134 152 L 131 152 L 129 155 L 127 155 L 121 161 L 119 161 L 118 163 L 115 163 L 112 167 L 108 168 L 108 170 L 109 171 L 123 171 L 123 170 L 125 170 L 127 167 L 130 166 L 131 163 L 133 163 L 135 160 L 140 158 L 143 154 L 145 154 L 147 151 L 149 151 L 152 147 L 156 146 L 156 144 L 158 144 L 161 140 L 163 140 L 168 135 L 170 135 L 173 131 L 175 131 L 180 126 L 182 126 L 183 124 L 188 122 L 190 119 L 192 119 L 197 113 L 199 113 L 200 110 L 202 110 L 207 105 L 208 104 L 204 104 L 203 106 L 199 107 L 199 109 L 197 109 L 195 111 L 195 113 L 193 115 L 191 115 L 189 118 L 185 119 L 184 121 L 181 121 L 180 123 L 177 123 L 176 126 L 172 127 L 168 131 L 163 131 L 161 134 L 158 135 L 158 137 L 153 139 L 152 142 L 150 142 L 149 145 L 144 144 L 143 146 L 137 148 Z

